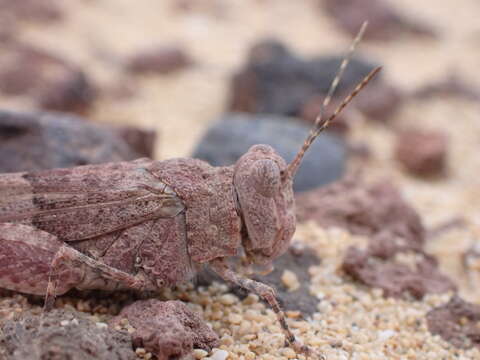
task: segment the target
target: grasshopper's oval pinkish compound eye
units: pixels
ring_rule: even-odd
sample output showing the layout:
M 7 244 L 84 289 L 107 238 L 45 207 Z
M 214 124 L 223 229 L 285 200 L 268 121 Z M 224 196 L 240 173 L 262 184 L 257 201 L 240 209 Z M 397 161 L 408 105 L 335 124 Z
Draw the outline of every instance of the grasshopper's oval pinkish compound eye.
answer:
M 278 165 L 268 159 L 257 160 L 254 163 L 253 177 L 255 189 L 266 197 L 274 197 L 280 191 L 281 177 Z

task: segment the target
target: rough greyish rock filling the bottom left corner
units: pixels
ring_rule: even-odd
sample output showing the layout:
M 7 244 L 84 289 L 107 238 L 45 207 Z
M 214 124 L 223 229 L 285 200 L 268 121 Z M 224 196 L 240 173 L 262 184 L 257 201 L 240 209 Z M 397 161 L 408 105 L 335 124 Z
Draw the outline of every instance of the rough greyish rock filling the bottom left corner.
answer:
M 88 316 L 66 310 L 23 313 L 0 331 L 5 360 L 134 360 L 130 335 L 99 327 Z

